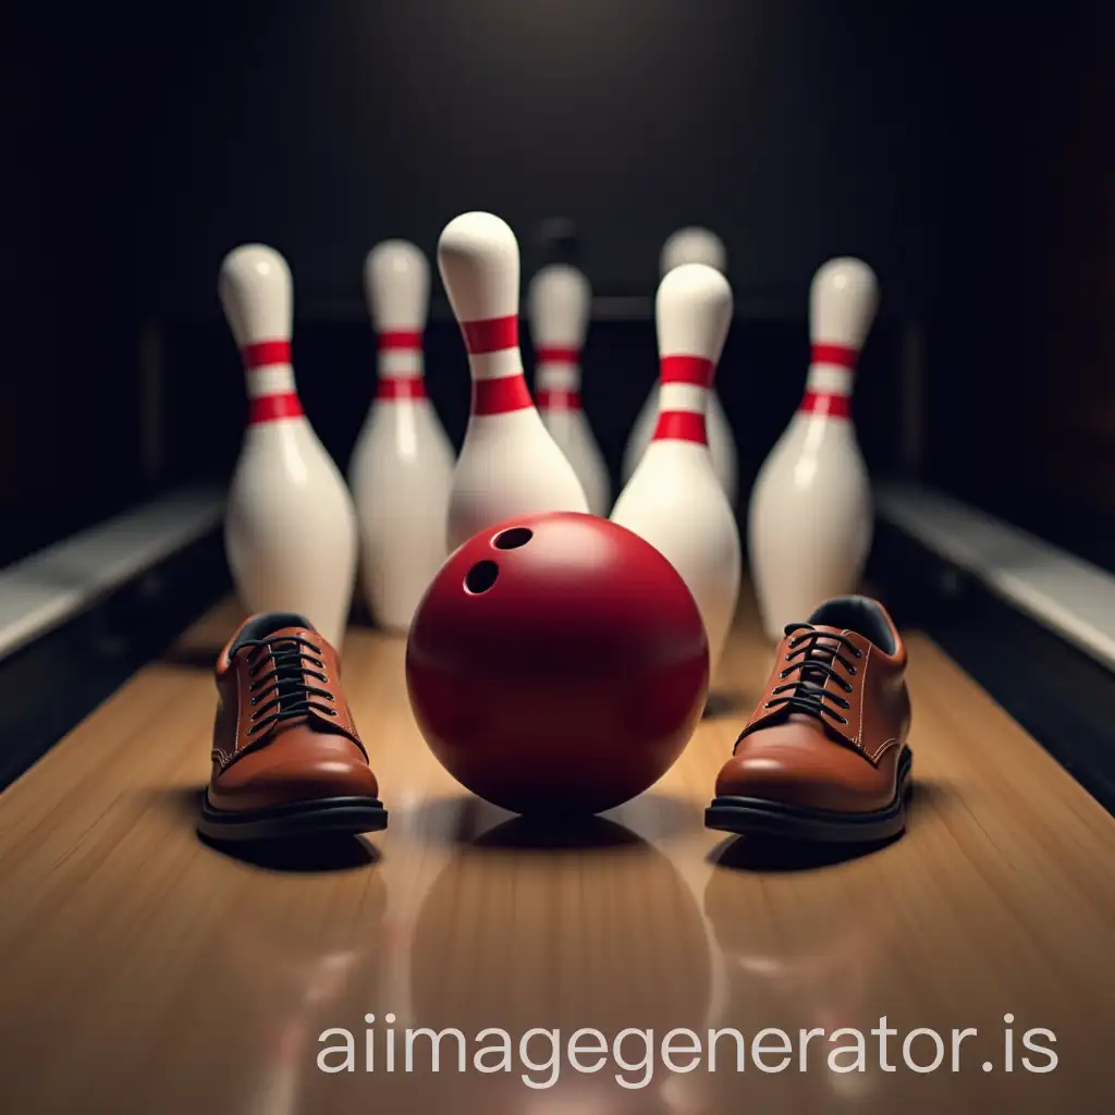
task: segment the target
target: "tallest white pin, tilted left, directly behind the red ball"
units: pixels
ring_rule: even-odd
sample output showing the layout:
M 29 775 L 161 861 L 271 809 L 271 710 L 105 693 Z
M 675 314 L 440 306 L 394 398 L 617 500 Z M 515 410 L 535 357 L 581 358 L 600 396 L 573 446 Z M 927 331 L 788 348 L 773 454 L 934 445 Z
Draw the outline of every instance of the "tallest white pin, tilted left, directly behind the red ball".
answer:
M 515 234 L 492 213 L 464 213 L 442 231 L 437 265 L 473 382 L 449 494 L 449 550 L 514 515 L 588 513 L 581 482 L 543 425 L 523 376 Z

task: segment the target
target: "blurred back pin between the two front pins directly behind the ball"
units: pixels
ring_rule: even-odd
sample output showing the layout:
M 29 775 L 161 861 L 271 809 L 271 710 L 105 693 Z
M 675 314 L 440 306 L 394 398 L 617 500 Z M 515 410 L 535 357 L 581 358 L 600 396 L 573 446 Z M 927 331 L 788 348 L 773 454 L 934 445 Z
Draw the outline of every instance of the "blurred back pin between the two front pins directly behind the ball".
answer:
M 573 466 L 593 515 L 611 507 L 611 482 L 600 446 L 581 408 L 581 349 L 592 291 L 575 268 L 555 263 L 531 281 L 527 311 L 534 340 L 539 414 Z

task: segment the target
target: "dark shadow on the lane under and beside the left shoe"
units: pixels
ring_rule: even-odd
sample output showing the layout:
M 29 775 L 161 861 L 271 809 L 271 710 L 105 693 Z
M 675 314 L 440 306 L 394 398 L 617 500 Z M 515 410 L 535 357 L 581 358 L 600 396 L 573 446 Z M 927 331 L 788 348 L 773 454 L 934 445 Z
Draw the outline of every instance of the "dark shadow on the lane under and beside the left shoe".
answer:
M 193 830 L 204 801 L 204 786 L 174 786 L 156 792 L 153 804 L 156 808 L 172 813 L 182 824 Z M 235 843 L 219 843 L 200 833 L 195 833 L 195 838 L 225 859 L 237 860 L 264 871 L 293 874 L 353 871 L 379 860 L 379 852 L 365 837 L 348 834 Z

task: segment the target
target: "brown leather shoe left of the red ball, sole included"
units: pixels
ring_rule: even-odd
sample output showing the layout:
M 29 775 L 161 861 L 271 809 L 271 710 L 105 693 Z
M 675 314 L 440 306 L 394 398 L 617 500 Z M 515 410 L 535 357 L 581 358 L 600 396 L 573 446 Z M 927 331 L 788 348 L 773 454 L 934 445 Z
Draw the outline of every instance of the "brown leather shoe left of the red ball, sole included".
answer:
M 340 688 L 337 651 L 300 615 L 253 615 L 216 663 L 213 773 L 198 830 L 270 840 L 387 827 Z

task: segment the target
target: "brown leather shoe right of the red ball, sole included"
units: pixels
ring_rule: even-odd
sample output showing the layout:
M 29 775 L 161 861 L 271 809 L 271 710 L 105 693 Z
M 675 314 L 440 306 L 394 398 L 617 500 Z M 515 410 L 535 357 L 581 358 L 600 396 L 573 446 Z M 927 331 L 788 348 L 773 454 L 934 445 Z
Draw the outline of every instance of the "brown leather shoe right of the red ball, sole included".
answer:
M 885 609 L 838 597 L 786 628 L 767 691 L 716 780 L 709 828 L 814 841 L 905 827 L 906 652 Z

